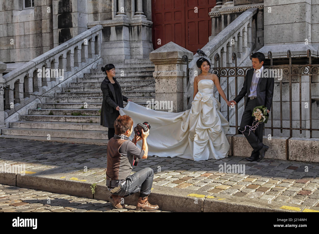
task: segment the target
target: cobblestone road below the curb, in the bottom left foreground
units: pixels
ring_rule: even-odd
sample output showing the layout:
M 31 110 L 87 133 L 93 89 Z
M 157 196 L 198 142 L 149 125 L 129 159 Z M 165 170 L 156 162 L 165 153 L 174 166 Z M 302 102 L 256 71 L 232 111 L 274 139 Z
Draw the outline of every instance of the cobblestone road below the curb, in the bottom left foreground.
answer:
M 110 202 L 0 184 L 0 212 L 168 212 L 114 209 Z

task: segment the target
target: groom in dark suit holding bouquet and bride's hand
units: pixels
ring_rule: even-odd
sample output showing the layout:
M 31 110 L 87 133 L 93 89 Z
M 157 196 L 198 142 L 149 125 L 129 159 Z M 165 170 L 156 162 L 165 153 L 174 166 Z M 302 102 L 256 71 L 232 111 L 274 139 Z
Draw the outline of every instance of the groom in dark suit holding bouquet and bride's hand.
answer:
M 249 144 L 254 149 L 251 152 L 251 156 L 246 158 L 248 161 L 258 162 L 263 159 L 265 152 L 268 150 L 268 146 L 263 144 L 263 127 L 264 123 L 259 123 L 255 132 L 249 133 L 249 128 L 245 126 L 252 126 L 255 118 L 252 117 L 253 110 L 256 106 L 267 107 L 269 113 L 272 103 L 272 96 L 274 91 L 274 78 L 263 76 L 263 63 L 265 61 L 265 55 L 260 52 L 254 53 L 252 56 L 253 68 L 247 71 L 243 87 L 234 100 L 229 101 L 230 104 L 235 105 L 246 96 L 246 106 L 244 113 L 241 117 L 240 131 L 243 131 L 244 136 L 247 138 Z M 269 73 L 268 73 L 269 74 Z M 244 131 L 245 130 L 245 131 Z M 260 155 L 260 157 L 259 157 Z

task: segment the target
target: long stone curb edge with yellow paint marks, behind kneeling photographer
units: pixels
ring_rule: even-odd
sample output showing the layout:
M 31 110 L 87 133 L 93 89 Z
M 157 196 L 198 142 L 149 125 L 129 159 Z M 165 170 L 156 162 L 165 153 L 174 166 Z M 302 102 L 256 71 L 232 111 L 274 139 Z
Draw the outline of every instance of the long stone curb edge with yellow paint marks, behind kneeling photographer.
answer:
M 54 175 L 20 175 L 15 173 L 0 173 L 0 183 L 22 188 L 43 190 L 53 193 L 68 194 L 80 197 L 108 201 L 111 195 L 105 186 L 105 180 L 96 183 L 94 195 L 91 192 L 93 180 L 86 181 L 63 180 L 63 173 Z M 285 202 L 253 200 L 252 198 L 231 195 L 211 194 L 181 188 L 169 188 L 154 185 L 149 197 L 152 204 L 159 205 L 161 210 L 173 212 L 311 212 L 319 211 L 317 207 L 293 205 Z M 125 204 L 136 205 L 138 194 L 125 197 Z

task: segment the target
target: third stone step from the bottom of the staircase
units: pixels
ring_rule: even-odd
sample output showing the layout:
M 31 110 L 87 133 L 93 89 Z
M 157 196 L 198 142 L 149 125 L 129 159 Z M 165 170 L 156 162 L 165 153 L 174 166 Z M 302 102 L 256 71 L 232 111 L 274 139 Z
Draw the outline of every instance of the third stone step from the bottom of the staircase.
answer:
M 65 129 L 85 131 L 108 131 L 108 127 L 100 123 L 76 123 L 76 122 L 46 122 L 46 121 L 16 121 L 9 123 L 10 128 L 32 128 L 32 129 Z

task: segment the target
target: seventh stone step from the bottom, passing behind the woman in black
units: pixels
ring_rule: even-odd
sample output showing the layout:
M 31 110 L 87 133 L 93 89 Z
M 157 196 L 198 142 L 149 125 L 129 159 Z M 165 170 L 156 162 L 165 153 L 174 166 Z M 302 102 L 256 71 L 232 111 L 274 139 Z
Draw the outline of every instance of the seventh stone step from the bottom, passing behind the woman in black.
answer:
M 130 97 L 130 99 L 135 103 L 146 103 L 147 101 L 152 101 L 154 96 L 148 97 Z M 47 97 L 46 103 L 102 103 L 102 97 Z M 124 102 L 125 103 L 125 102 Z

